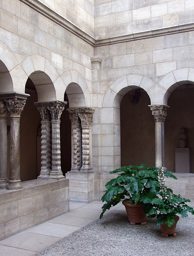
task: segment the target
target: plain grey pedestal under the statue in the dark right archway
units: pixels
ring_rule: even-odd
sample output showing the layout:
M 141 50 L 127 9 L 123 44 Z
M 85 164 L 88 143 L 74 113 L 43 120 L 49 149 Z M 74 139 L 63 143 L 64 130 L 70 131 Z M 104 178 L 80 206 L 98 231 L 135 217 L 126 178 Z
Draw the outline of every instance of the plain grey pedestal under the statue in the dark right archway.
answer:
M 190 172 L 189 148 L 175 149 L 175 171 L 182 173 Z

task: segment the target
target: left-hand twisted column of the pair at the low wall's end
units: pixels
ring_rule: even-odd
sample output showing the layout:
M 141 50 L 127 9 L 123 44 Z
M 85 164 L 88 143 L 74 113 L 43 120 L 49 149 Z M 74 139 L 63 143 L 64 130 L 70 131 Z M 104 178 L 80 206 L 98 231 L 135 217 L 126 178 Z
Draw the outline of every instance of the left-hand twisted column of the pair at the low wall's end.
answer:
M 50 176 L 50 121 L 48 102 L 35 102 L 41 115 L 41 170 L 38 178 L 48 179 Z

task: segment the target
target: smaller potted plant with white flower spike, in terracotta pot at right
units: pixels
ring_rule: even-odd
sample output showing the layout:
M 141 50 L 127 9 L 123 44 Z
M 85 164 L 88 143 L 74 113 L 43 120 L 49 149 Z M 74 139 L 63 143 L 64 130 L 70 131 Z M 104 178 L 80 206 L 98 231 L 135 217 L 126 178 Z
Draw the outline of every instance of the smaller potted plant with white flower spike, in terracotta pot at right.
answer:
M 156 225 L 160 226 L 162 236 L 176 236 L 175 228 L 179 220 L 177 214 L 180 214 L 182 217 L 187 217 L 188 212 L 194 214 L 194 209 L 186 204 L 190 202 L 189 199 L 182 198 L 180 194 L 173 194 L 173 191 L 167 188 L 164 176 L 164 168 L 159 167 L 160 197 L 156 196 L 152 199 L 151 203 L 146 204 L 144 211 L 148 214 L 148 218 L 156 217 Z

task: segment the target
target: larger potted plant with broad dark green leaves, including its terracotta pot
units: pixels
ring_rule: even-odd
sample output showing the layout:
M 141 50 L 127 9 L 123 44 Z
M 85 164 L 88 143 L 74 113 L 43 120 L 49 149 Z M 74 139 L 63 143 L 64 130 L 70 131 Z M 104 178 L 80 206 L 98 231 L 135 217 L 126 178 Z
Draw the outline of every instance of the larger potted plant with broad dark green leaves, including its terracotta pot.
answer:
M 105 194 L 101 200 L 106 203 L 102 206 L 100 219 L 106 210 L 123 201 L 130 224 L 146 224 L 146 214 L 143 211 L 144 204 L 150 204 L 160 191 L 158 169 L 145 164 L 129 165 L 110 172 L 110 174 L 115 173 L 118 173 L 118 176 L 105 185 Z M 174 178 L 172 172 L 169 171 L 165 173 L 165 176 Z M 136 219 L 136 217 L 138 218 Z

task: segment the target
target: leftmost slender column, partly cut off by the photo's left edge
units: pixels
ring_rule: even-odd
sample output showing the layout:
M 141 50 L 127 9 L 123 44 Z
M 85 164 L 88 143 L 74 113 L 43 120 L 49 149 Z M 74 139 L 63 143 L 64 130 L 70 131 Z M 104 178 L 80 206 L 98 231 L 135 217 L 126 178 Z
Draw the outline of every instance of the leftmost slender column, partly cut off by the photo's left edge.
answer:
M 0 101 L 0 188 L 6 188 L 7 178 L 7 110 Z

